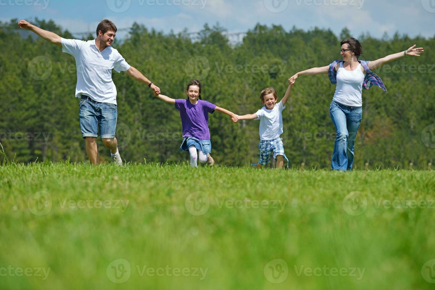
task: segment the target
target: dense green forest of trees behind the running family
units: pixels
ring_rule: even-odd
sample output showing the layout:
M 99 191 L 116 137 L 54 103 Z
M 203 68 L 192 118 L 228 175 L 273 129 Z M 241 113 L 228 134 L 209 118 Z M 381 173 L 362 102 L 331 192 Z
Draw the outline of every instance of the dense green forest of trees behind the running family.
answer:
M 0 142 L 6 155 L 0 154 L 0 162 L 87 162 L 79 100 L 74 98 L 74 58 L 45 40 L 23 37 L 17 21 L 0 22 Z M 53 21 L 31 23 L 73 38 Z M 192 41 L 187 32 L 164 34 L 134 24 L 128 37 L 115 40 L 114 48 L 169 97 L 186 97 L 186 84 L 197 78 L 203 83 L 204 100 L 247 114 L 262 107 L 259 95 L 265 87 L 274 87 L 280 99 L 294 73 L 341 59 L 340 40 L 351 36 L 346 28 L 337 36 L 318 28 L 304 31 L 258 24 L 241 43 L 232 44 L 223 30 L 219 25 L 205 25 L 200 40 Z M 368 163 L 370 168 L 427 169 L 435 161 L 435 54 L 431 50 L 435 37 L 352 36 L 362 44 L 362 60 L 375 60 L 413 44 L 425 48 L 422 57 L 404 57 L 376 70 L 388 93 L 378 87 L 363 91 L 355 168 Z M 94 38 L 89 35 L 84 40 Z M 146 85 L 124 72 L 114 71 L 113 79 L 123 160 L 187 162 L 188 153 L 179 150 L 181 121 L 174 106 L 158 100 Z M 327 75 L 298 78 L 283 111 L 281 137 L 290 167 L 330 168 L 335 128 L 329 104 L 334 91 Z M 234 124 L 225 114 L 211 115 L 211 155 L 217 164 L 257 162 L 258 125 L 256 120 Z M 109 150 L 101 140 L 98 146 L 103 161 L 109 160 Z

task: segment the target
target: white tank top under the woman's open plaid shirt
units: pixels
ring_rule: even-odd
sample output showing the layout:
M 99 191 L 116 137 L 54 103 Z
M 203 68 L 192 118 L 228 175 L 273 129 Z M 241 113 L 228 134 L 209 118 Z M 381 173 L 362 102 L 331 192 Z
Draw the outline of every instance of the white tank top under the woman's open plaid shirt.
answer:
M 350 107 L 362 106 L 362 83 L 365 75 L 361 71 L 361 63 L 355 70 L 345 70 L 343 62 L 337 70 L 337 87 L 333 101 Z

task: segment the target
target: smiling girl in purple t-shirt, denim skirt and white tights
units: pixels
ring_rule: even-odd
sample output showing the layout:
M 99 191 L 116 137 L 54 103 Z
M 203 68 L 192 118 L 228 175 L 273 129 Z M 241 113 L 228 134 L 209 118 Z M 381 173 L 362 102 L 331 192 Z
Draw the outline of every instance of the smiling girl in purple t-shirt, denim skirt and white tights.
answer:
M 180 111 L 181 124 L 183 126 L 183 141 L 180 150 L 189 151 L 191 166 L 197 167 L 197 159 L 201 163 L 213 166 L 214 160 L 210 156 L 211 142 L 210 130 L 208 130 L 208 113 L 217 110 L 231 116 L 233 122 L 237 122 L 237 115 L 218 107 L 212 103 L 202 100 L 202 84 L 199 80 L 192 80 L 186 89 L 187 99 L 171 99 L 170 97 L 154 92 L 154 95 L 167 103 L 175 104 Z M 197 154 L 196 150 L 199 151 Z

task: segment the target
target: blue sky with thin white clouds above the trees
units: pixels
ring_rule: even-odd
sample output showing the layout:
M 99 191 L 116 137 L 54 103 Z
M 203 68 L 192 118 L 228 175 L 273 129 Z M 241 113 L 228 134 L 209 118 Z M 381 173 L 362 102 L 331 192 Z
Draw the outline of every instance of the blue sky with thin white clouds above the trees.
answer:
M 94 31 L 107 18 L 118 29 L 136 21 L 176 33 L 219 22 L 230 32 L 261 23 L 286 30 L 330 28 L 337 35 L 348 27 L 355 37 L 363 32 L 391 36 L 396 31 L 435 36 L 435 0 L 0 0 L 0 20 L 33 17 L 53 19 L 71 32 Z

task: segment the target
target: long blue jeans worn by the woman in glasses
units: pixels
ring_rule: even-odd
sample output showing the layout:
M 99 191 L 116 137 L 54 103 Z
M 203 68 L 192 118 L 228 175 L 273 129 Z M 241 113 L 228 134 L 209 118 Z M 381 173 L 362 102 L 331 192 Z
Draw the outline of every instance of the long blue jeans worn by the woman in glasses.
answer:
M 355 137 L 362 120 L 362 107 L 348 107 L 332 101 L 329 113 L 337 132 L 331 169 L 352 170 Z

